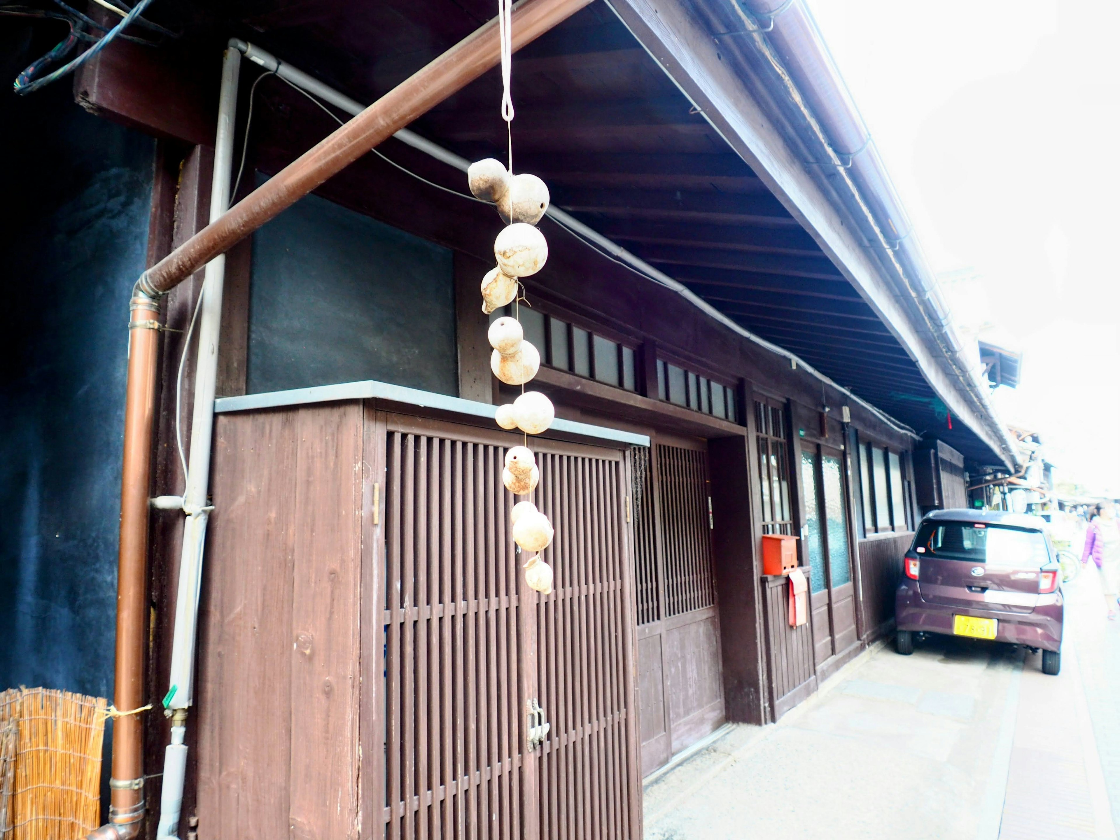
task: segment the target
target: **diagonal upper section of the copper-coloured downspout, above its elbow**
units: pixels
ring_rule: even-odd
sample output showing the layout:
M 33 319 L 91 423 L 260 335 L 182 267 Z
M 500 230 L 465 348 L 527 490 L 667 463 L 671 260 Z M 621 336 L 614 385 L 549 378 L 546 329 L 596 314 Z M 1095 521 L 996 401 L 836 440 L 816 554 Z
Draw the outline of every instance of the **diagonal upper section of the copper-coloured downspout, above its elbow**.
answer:
M 590 2 L 521 0 L 513 8 L 513 48 L 520 49 Z M 139 288 L 150 293 L 169 291 L 395 131 L 478 78 L 500 59 L 495 18 L 300 155 L 224 216 L 148 269 Z

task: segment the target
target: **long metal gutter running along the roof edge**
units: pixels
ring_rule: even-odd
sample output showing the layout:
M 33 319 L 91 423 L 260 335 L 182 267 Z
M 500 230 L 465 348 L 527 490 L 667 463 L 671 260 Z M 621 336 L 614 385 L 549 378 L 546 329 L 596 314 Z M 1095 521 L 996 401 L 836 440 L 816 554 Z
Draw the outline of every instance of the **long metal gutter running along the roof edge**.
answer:
M 737 40 L 753 41 L 783 78 L 784 90 L 772 93 L 801 111 L 811 130 L 820 136 L 829 159 L 814 162 L 834 169 L 850 188 L 851 197 L 867 216 L 862 221 L 870 223 L 881 246 L 880 263 L 894 274 L 890 279 L 899 297 L 909 299 L 918 325 L 933 338 L 950 374 L 960 383 L 961 393 L 999 444 L 1002 451 L 997 454 L 1018 466 L 1015 440 L 996 416 L 987 386 L 964 355 L 917 235 L 812 13 L 803 0 L 726 2 L 731 3 L 748 36 Z

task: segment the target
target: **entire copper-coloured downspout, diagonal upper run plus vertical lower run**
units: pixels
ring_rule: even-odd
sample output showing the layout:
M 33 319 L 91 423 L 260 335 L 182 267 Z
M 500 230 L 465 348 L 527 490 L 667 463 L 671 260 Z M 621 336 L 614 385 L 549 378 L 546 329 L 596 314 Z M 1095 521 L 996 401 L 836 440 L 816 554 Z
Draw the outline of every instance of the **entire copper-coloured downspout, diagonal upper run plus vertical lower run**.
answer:
M 513 49 L 525 46 L 591 1 L 521 0 L 513 9 Z M 124 408 L 113 696 L 113 704 L 120 711 L 133 711 L 144 702 L 148 515 L 159 298 L 500 60 L 497 20 L 494 19 L 399 84 L 141 274 L 131 304 Z M 109 824 L 93 831 L 90 838 L 129 840 L 139 833 L 144 812 L 143 745 L 137 715 L 118 717 L 114 721 L 112 780 Z

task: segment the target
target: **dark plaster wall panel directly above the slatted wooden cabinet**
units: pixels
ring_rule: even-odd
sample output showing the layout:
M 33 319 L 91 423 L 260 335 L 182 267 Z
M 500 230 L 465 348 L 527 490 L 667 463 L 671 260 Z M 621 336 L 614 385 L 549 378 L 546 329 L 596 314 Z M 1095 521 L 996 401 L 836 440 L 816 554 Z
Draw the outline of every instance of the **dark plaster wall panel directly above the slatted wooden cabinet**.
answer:
M 249 392 L 377 380 L 458 395 L 451 252 L 318 196 L 253 235 Z

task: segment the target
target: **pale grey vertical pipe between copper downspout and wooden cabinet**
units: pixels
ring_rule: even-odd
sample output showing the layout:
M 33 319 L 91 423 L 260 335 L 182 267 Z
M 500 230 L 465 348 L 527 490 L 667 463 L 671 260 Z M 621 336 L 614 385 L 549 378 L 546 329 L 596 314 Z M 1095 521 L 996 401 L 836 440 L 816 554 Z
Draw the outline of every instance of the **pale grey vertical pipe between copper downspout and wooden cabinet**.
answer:
M 217 137 L 214 142 L 214 178 L 211 185 L 209 221 L 217 221 L 230 205 L 233 176 L 233 132 L 237 114 L 237 80 L 241 53 L 231 41 L 222 62 L 222 88 L 217 106 Z M 183 783 L 187 767 L 187 707 L 194 699 L 195 626 L 198 618 L 198 588 L 206 545 L 206 521 L 212 510 L 209 489 L 211 442 L 214 431 L 214 394 L 217 384 L 218 339 L 222 328 L 222 292 L 225 284 L 225 254 L 206 263 L 198 319 L 198 362 L 195 373 L 194 409 L 190 417 L 190 456 L 183 512 L 179 584 L 175 604 L 175 634 L 171 645 L 170 685 L 164 704 L 171 717 L 171 743 L 164 756 L 164 786 L 159 803 L 159 840 L 174 838 L 179 829 Z

